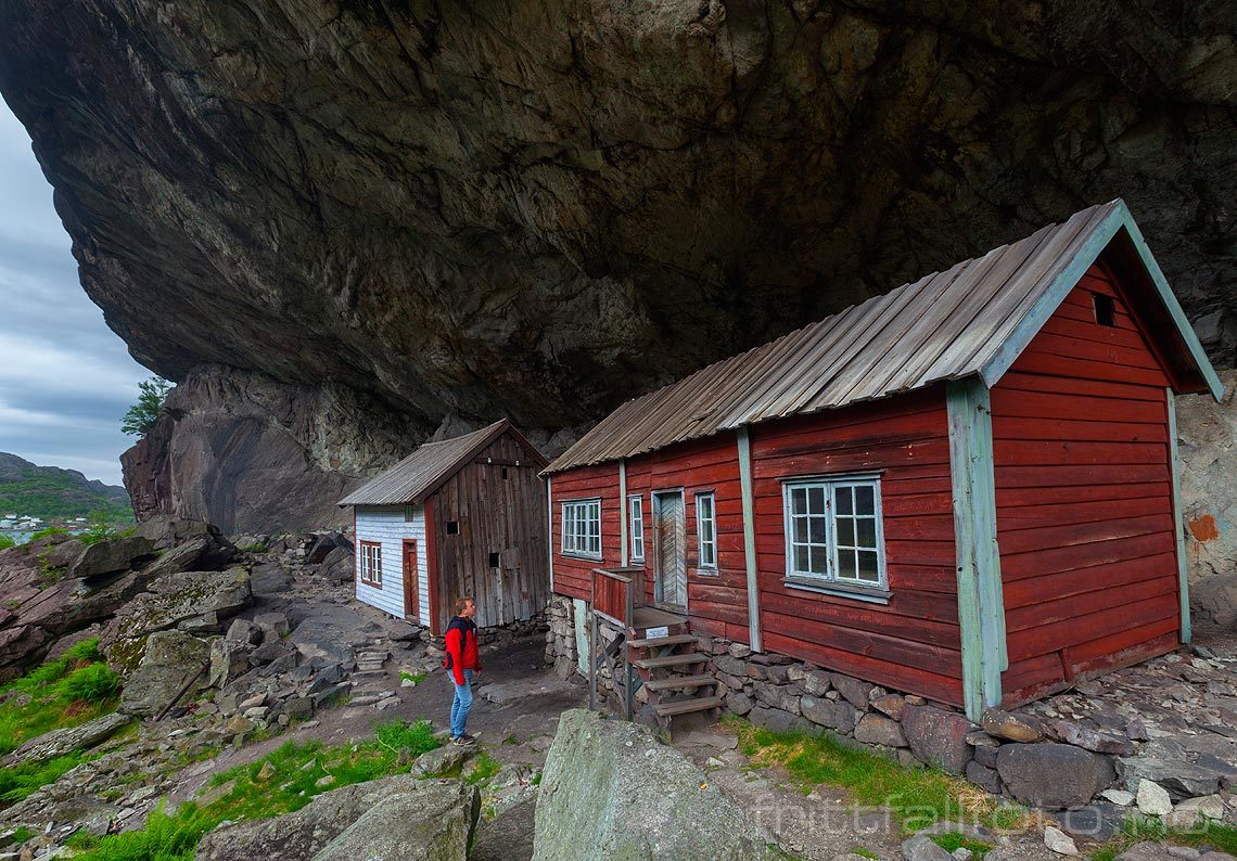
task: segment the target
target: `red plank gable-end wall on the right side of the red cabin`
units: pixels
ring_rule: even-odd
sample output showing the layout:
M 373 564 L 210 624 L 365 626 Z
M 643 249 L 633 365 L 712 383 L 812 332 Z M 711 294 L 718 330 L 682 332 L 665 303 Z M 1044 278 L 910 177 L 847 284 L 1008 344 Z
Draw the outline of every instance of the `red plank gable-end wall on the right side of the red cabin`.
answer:
M 1097 265 L 993 388 L 1007 704 L 1175 643 L 1168 385 Z

